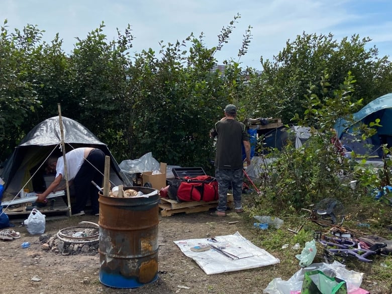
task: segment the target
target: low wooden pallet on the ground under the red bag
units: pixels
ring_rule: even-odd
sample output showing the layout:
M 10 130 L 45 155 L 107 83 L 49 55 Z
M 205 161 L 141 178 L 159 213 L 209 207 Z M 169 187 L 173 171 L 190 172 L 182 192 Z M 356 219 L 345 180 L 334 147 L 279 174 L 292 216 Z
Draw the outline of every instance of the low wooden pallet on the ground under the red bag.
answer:
M 176 213 L 199 213 L 206 212 L 212 208 L 216 208 L 218 205 L 218 201 L 187 201 L 187 202 L 176 202 L 172 199 L 161 198 L 161 203 L 159 204 L 159 208 L 161 210 L 162 217 L 171 217 Z M 233 195 L 227 195 L 227 207 L 233 208 Z

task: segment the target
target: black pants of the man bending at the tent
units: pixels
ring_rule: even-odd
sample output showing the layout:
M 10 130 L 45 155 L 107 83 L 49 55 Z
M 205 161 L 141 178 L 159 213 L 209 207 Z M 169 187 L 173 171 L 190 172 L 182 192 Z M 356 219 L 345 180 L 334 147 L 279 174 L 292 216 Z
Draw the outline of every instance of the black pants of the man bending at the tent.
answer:
M 92 185 L 91 181 L 102 185 L 104 169 L 105 153 L 100 149 L 92 149 L 73 180 L 76 196 L 76 203 L 72 208 L 73 214 L 84 210 L 88 198 L 91 200 L 92 214 L 100 212 L 99 190 Z

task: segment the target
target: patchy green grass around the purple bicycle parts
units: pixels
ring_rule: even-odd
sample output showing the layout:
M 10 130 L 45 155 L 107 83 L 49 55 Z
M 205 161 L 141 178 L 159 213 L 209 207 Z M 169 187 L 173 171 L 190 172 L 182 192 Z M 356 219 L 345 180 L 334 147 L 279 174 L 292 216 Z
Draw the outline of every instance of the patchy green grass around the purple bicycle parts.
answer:
M 259 211 L 254 208 L 255 199 L 258 203 Z M 279 272 L 282 279 L 288 279 L 293 272 L 296 272 L 299 267 L 299 260 L 295 257 L 301 254 L 305 247 L 305 242 L 311 241 L 314 238 L 315 232 L 326 234 L 332 237 L 329 227 L 322 227 L 311 220 L 306 220 L 309 217 L 307 212 L 284 212 L 279 215 L 270 215 L 266 212 L 271 212 L 271 205 L 267 201 L 260 199 L 259 195 L 247 195 L 245 197 L 245 210 L 243 215 L 244 223 L 251 232 L 251 241 L 260 248 L 267 250 L 274 257 L 279 258 Z M 260 207 L 260 203 L 263 206 Z M 346 218 L 343 222 L 342 229 L 352 230 L 355 232 L 354 238 L 363 235 L 378 235 L 387 240 L 392 240 L 392 231 L 389 230 L 389 225 L 392 224 L 392 207 L 378 202 L 370 197 L 362 197 L 355 201 L 347 201 L 344 203 Z M 260 210 L 261 208 L 261 210 Z M 263 213 L 261 213 L 261 212 Z M 254 215 L 269 215 L 278 217 L 284 221 L 279 229 L 268 228 L 261 230 L 253 227 L 253 223 L 257 222 Z M 359 226 L 360 224 L 368 224 L 369 227 Z M 297 231 L 303 225 L 302 229 L 297 233 L 289 232 L 287 229 Z M 297 243 L 300 244 L 300 249 L 293 249 L 292 247 Z M 282 248 L 287 245 L 286 248 Z M 359 261 L 355 257 L 348 257 L 345 261 L 343 258 L 335 257 L 339 262 L 345 262 L 348 270 L 354 270 L 364 273 L 363 283 L 366 287 L 366 281 L 370 283 L 377 283 L 382 289 L 390 289 L 392 277 L 392 256 L 373 255 L 369 259 L 373 260 L 371 263 Z M 326 262 L 324 258 L 324 247 L 317 242 L 317 255 L 313 263 Z M 388 290 L 385 290 L 385 293 Z

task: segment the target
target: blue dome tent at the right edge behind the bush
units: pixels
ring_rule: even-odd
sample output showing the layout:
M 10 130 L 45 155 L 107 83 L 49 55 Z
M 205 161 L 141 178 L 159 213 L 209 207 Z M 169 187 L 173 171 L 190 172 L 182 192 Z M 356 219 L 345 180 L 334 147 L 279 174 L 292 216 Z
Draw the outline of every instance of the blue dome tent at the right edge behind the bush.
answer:
M 379 124 L 381 125 L 381 127 L 375 127 L 377 133 L 365 142 L 358 142 L 358 135 L 353 134 L 355 128 L 360 122 L 369 125 L 376 119 L 380 120 Z M 356 153 L 382 156 L 380 145 L 392 146 L 392 93 L 378 97 L 353 114 L 353 123 L 344 119 L 338 120 L 335 124 L 335 130 L 342 143 L 352 148 Z M 366 144 L 371 144 L 373 147 L 368 148 Z

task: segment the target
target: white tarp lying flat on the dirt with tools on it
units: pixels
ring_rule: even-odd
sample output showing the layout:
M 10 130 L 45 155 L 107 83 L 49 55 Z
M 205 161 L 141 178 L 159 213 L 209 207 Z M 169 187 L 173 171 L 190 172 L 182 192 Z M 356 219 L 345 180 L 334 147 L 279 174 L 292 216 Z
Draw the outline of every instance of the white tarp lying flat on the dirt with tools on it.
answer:
M 174 241 L 174 243 L 182 253 L 192 258 L 207 274 L 256 268 L 280 262 L 279 259 L 273 257 L 264 249 L 253 245 L 238 232 L 233 235 L 218 236 L 215 239 L 218 242 L 212 242 L 208 239 L 187 239 Z M 237 256 L 238 259 L 230 259 L 214 249 L 203 252 L 190 250 L 191 247 L 200 244 L 225 247 L 223 249 L 225 252 Z

